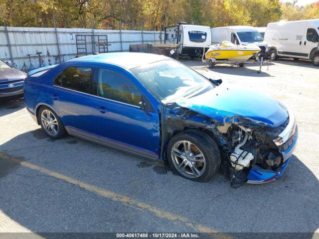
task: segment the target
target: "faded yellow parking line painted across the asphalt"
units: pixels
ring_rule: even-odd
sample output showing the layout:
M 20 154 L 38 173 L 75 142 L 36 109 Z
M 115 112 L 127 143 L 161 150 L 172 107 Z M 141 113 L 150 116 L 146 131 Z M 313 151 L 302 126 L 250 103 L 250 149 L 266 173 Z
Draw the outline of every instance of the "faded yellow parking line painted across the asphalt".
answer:
M 170 221 L 173 221 L 173 222 L 181 222 L 181 223 L 185 224 L 186 226 L 188 226 L 188 227 L 190 227 L 192 229 L 195 229 L 196 231 L 199 231 L 199 232 L 202 232 L 202 233 L 214 233 L 214 232 L 217 232 L 217 231 L 215 231 L 215 230 L 213 230 L 213 229 L 211 229 L 209 227 L 206 227 L 206 226 L 203 226 L 203 225 L 200 225 L 200 224 L 196 224 L 196 223 L 192 222 L 191 220 L 189 220 L 187 218 L 184 218 L 184 217 L 181 217 L 181 216 L 166 212 L 166 211 L 161 210 L 161 209 L 159 209 L 157 207 L 154 207 L 154 206 L 146 204 L 146 203 L 139 202 L 139 201 L 137 201 L 135 199 L 132 199 L 130 197 L 127 197 L 127 196 L 124 196 L 124 195 L 121 195 L 121 194 L 118 194 L 118 193 L 115 193 L 115 192 L 112 192 L 112 191 L 109 191 L 109 190 L 106 190 L 106 189 L 103 189 L 103 188 L 99 188 L 99 187 L 96 187 L 94 185 L 90 185 L 90 184 L 81 182 L 81 181 L 79 181 L 77 179 L 65 176 L 65 175 L 60 174 L 60 173 L 56 173 L 54 171 L 51 171 L 49 169 L 37 166 L 35 164 L 29 163 L 29 162 L 26 162 L 26 161 L 21 161 L 21 160 L 15 158 L 15 157 L 12 157 L 12 156 L 10 156 L 8 154 L 0 152 L 0 158 L 6 159 L 6 160 L 11 160 L 11 161 L 13 161 L 13 162 L 15 162 L 17 164 L 20 164 L 21 166 L 24 166 L 24 167 L 27 167 L 27 168 L 30 168 L 30 169 L 33 169 L 33 170 L 37 170 L 37 171 L 39 171 L 41 173 L 44 173 L 46 175 L 49 175 L 49 176 L 52 176 L 54 178 L 63 180 L 65 182 L 68 182 L 70 184 L 79 186 L 79 187 L 84 188 L 85 190 L 87 190 L 89 192 L 98 194 L 98 195 L 100 195 L 100 196 L 102 196 L 104 198 L 111 199 L 111 200 L 113 200 L 115 202 L 121 202 L 121 203 L 126 204 L 126 205 L 128 205 L 130 207 L 133 207 L 135 209 L 142 209 L 144 211 L 153 213 L 154 215 L 156 215 L 159 218 L 167 219 L 167 220 L 170 220 Z M 219 238 L 223 238 L 223 239 L 231 238 L 228 235 L 220 234 L 220 233 L 218 233 L 218 237 Z

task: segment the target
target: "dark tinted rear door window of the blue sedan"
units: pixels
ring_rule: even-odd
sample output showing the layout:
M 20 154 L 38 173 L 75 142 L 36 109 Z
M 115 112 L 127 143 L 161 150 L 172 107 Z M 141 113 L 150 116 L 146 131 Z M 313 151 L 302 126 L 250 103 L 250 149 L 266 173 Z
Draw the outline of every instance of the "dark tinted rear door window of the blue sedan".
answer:
M 91 67 L 69 67 L 54 79 L 54 85 L 90 93 L 91 76 Z

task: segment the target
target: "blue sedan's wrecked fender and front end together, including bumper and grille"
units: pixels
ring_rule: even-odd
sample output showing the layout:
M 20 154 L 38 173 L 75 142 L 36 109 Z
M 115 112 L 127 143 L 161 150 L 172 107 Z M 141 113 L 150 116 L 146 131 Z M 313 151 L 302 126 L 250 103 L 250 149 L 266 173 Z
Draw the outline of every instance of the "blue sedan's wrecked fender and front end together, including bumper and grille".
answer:
M 298 128 L 294 115 L 286 108 L 287 116 L 275 126 L 242 116 L 220 121 L 178 105 L 169 108 L 161 111 L 162 147 L 178 131 L 187 128 L 204 131 L 218 144 L 221 169 L 235 188 L 280 177 L 297 145 Z M 164 151 L 161 148 L 162 158 Z

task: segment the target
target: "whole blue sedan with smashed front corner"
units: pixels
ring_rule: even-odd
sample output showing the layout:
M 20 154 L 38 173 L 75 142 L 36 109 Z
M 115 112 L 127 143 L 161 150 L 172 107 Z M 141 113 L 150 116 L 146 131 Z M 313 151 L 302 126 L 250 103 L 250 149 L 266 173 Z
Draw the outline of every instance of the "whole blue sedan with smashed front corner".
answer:
M 161 55 L 106 53 L 50 68 L 29 73 L 24 92 L 54 139 L 68 133 L 168 160 L 193 181 L 221 168 L 232 187 L 280 177 L 296 147 L 294 115 L 281 103 Z

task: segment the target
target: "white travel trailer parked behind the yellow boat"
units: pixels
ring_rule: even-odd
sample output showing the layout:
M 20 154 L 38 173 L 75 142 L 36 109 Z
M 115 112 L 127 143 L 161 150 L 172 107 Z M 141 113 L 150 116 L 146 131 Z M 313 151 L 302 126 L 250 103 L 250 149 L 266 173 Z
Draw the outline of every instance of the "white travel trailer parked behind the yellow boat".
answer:
M 174 26 L 165 27 L 165 44 L 179 44 L 179 54 L 188 55 L 191 58 L 201 56 L 205 47 L 208 49 L 211 43 L 209 26 L 188 25 L 179 22 Z

